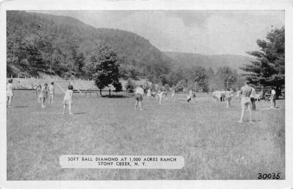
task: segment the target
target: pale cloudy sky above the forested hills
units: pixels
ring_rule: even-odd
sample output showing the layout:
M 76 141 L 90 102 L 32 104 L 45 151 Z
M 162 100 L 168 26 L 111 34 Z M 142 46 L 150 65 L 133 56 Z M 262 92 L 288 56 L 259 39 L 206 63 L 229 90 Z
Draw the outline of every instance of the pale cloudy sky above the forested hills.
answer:
M 259 50 L 272 29 L 285 25 L 282 10 L 36 11 L 74 17 L 96 28 L 136 33 L 161 51 L 204 55 Z

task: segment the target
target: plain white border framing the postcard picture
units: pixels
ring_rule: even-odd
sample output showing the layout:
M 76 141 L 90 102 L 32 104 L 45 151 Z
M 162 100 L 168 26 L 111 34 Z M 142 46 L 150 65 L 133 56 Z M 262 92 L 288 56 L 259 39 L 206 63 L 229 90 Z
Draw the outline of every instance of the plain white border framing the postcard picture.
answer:
M 285 10 L 286 96 L 293 96 L 293 1 L 290 0 L 7 0 L 0 3 L 0 88 L 6 85 L 6 10 Z M 286 98 L 286 180 L 6 181 L 6 91 L 0 90 L 0 188 L 292 189 L 292 98 Z

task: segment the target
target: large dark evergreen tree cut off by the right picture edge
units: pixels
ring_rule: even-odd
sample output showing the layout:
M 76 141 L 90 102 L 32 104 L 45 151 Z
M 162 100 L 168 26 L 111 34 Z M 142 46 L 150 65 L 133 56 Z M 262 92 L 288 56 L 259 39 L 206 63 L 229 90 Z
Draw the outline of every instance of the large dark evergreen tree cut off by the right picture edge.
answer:
M 248 72 L 243 74 L 252 84 L 274 86 L 277 96 L 285 84 L 285 27 L 274 29 L 267 34 L 265 40 L 257 40 L 260 51 L 247 52 L 256 61 L 240 69 Z

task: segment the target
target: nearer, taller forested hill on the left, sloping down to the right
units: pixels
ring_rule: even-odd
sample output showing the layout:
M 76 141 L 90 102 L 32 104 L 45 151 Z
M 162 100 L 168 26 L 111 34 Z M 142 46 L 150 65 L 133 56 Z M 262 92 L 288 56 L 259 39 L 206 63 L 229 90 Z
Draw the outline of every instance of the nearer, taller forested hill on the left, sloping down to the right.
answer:
M 172 60 L 148 40 L 122 30 L 94 28 L 64 16 L 7 11 L 7 75 L 86 77 L 83 66 L 93 46 L 105 42 L 120 63 L 123 78 L 155 81 Z

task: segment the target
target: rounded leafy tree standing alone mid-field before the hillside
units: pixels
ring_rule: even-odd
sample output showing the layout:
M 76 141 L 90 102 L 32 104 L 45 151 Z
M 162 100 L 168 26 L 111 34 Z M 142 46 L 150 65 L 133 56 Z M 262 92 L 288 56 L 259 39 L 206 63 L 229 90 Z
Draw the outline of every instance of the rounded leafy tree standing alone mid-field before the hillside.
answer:
M 101 96 L 103 88 L 119 82 L 117 56 L 104 42 L 94 47 L 84 65 L 84 71 L 95 81 Z

